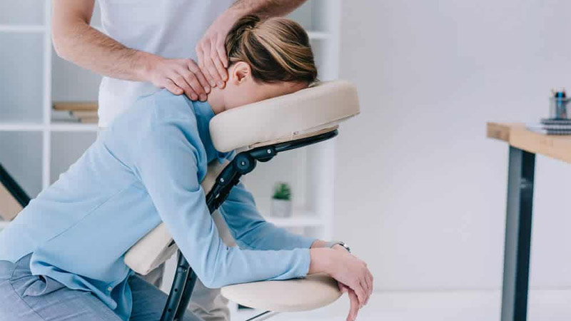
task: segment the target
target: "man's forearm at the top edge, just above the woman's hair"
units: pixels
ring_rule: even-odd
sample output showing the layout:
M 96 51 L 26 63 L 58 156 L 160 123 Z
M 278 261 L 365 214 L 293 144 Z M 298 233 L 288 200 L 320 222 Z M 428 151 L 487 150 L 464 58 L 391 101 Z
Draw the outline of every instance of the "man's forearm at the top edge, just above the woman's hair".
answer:
M 231 9 L 240 12 L 242 16 L 246 14 L 258 14 L 259 16 L 265 17 L 285 16 L 305 1 L 306 0 L 238 0 L 231 6 Z

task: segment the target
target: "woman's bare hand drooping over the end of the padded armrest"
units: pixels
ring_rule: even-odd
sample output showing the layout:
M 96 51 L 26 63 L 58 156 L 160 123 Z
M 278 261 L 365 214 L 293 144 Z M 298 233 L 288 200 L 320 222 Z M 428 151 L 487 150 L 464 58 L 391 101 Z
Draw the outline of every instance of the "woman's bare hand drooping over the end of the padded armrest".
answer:
M 367 304 L 373 292 L 373 275 L 367 264 L 345 249 L 313 248 L 310 256 L 309 274 L 328 273 L 340 283 L 342 291 L 348 288 L 351 307 L 347 320 L 355 320 L 358 309 Z

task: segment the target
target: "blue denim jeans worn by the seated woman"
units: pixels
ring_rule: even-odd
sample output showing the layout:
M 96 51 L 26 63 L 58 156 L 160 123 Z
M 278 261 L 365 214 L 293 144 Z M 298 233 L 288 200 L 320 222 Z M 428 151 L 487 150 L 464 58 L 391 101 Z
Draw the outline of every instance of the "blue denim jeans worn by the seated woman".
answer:
M 31 275 L 30 255 L 16 263 L 0 261 L 0 321 L 122 321 L 91 292 L 71 290 L 60 282 Z M 133 294 L 129 321 L 157 321 L 166 294 L 141 277 L 128 279 Z M 199 321 L 192 312 L 184 321 Z

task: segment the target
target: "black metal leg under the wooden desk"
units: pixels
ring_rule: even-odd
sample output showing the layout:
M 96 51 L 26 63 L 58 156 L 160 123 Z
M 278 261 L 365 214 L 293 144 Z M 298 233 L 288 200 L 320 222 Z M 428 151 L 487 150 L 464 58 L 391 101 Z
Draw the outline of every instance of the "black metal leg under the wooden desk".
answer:
M 535 154 L 510 147 L 502 321 L 527 318 Z

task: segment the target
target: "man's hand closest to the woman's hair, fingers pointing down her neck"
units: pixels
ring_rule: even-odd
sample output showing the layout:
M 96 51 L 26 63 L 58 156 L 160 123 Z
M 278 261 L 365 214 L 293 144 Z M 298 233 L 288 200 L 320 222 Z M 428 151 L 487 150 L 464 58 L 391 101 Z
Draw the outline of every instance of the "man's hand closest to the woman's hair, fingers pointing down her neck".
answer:
M 232 28 L 239 15 L 232 9 L 218 16 L 206 30 L 206 34 L 196 45 L 198 66 L 204 73 L 211 86 L 224 88 L 228 80 L 228 55 L 225 42 L 228 31 Z

